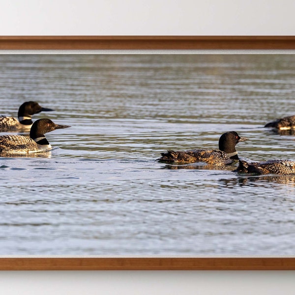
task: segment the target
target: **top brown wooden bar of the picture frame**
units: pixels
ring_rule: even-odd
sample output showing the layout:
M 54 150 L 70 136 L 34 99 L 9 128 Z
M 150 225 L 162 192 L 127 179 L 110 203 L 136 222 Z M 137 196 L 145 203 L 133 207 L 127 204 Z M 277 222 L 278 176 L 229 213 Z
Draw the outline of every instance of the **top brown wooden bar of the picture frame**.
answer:
M 0 36 L 0 50 L 292 50 L 295 36 Z

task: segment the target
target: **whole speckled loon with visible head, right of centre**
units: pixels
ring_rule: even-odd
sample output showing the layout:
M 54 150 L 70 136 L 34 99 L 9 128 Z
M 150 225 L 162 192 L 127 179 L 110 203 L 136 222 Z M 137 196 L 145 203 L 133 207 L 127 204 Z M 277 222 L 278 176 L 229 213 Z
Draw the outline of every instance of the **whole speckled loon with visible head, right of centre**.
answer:
M 219 139 L 219 150 L 189 149 L 183 151 L 168 150 L 161 153 L 160 162 L 195 163 L 206 162 L 209 165 L 229 165 L 238 160 L 236 144 L 247 140 L 240 137 L 236 131 L 226 132 Z

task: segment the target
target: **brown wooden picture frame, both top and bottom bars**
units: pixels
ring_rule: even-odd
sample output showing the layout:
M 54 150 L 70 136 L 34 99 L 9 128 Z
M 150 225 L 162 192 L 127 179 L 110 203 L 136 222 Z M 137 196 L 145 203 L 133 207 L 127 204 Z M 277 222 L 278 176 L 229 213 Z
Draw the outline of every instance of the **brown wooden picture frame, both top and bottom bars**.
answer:
M 295 36 L 0 36 L 0 50 L 294 50 Z M 0 257 L 0 270 L 295 270 L 295 257 Z

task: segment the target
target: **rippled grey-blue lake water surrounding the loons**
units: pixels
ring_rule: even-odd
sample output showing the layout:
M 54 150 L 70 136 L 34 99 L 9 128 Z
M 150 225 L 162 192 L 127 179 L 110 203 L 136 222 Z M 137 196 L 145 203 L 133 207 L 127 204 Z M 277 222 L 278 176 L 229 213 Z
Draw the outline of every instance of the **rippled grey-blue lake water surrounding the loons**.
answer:
M 295 159 L 262 128 L 295 115 L 295 55 L 0 55 L 0 97 L 72 126 L 0 157 L 0 255 L 294 256 L 295 177 L 155 160 L 232 130 L 240 157 Z

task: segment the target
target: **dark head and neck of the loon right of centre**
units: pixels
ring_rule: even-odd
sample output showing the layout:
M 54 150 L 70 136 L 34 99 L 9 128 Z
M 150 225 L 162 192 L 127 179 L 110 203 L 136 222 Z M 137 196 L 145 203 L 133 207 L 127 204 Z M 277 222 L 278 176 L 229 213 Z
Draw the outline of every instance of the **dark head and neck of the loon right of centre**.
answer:
M 236 144 L 247 139 L 246 137 L 240 137 L 236 131 L 226 132 L 219 139 L 219 149 L 229 154 L 231 159 L 238 160 Z

